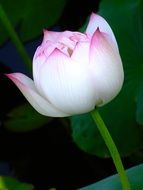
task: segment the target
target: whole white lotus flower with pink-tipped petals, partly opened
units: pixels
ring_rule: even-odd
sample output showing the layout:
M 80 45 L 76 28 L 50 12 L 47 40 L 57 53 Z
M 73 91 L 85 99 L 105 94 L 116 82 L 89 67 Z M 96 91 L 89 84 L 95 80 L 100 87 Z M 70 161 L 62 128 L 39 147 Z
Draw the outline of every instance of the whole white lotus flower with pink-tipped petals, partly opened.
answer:
M 123 84 L 118 45 L 109 24 L 92 14 L 85 33 L 44 30 L 33 58 L 33 80 L 7 74 L 41 114 L 65 117 L 111 101 Z

